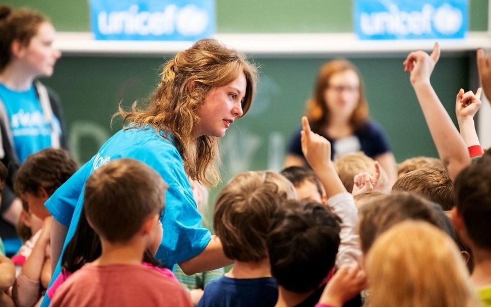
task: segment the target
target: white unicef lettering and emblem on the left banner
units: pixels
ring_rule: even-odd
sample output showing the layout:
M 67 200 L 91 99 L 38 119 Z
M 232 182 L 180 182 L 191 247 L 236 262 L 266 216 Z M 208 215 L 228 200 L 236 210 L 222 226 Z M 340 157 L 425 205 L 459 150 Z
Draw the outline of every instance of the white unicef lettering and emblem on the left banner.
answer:
M 194 5 L 178 8 L 171 4 L 160 12 L 140 11 L 138 5 L 132 5 L 127 11 L 101 11 L 97 15 L 98 30 L 104 35 L 199 35 L 208 23 L 208 12 Z

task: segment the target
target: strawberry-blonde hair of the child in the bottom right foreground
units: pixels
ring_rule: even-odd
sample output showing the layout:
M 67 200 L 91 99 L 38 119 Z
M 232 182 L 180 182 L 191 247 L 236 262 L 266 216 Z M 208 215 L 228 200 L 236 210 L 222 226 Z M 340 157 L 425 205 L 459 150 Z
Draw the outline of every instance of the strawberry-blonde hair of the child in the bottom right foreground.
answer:
M 457 246 L 428 223 L 392 227 L 375 241 L 365 264 L 372 307 L 476 306 Z

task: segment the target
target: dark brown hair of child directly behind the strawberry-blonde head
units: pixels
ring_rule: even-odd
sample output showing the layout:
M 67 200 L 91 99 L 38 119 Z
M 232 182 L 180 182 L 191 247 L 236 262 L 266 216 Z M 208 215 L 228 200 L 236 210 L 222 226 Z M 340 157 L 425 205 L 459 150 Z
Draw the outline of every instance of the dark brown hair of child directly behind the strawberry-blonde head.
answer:
M 445 225 L 435 206 L 425 198 L 409 192 L 392 192 L 365 203 L 359 210 L 361 251 L 366 254 L 377 237 L 402 221 L 425 221 L 444 229 Z

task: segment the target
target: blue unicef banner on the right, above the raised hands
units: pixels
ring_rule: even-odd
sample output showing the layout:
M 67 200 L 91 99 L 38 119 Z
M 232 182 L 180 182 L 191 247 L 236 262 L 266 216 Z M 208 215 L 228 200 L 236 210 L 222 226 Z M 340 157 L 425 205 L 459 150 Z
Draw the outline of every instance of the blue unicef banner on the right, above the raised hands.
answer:
M 463 38 L 468 0 L 355 0 L 360 39 Z

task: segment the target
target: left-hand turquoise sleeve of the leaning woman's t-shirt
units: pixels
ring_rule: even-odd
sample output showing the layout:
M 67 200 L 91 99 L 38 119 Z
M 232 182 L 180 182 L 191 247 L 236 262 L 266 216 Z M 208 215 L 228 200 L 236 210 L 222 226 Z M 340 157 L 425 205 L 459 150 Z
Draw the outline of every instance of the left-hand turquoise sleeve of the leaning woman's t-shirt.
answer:
M 57 188 L 44 203 L 53 218 L 66 227 L 70 227 L 85 181 L 92 171 L 92 162 L 93 158 Z

